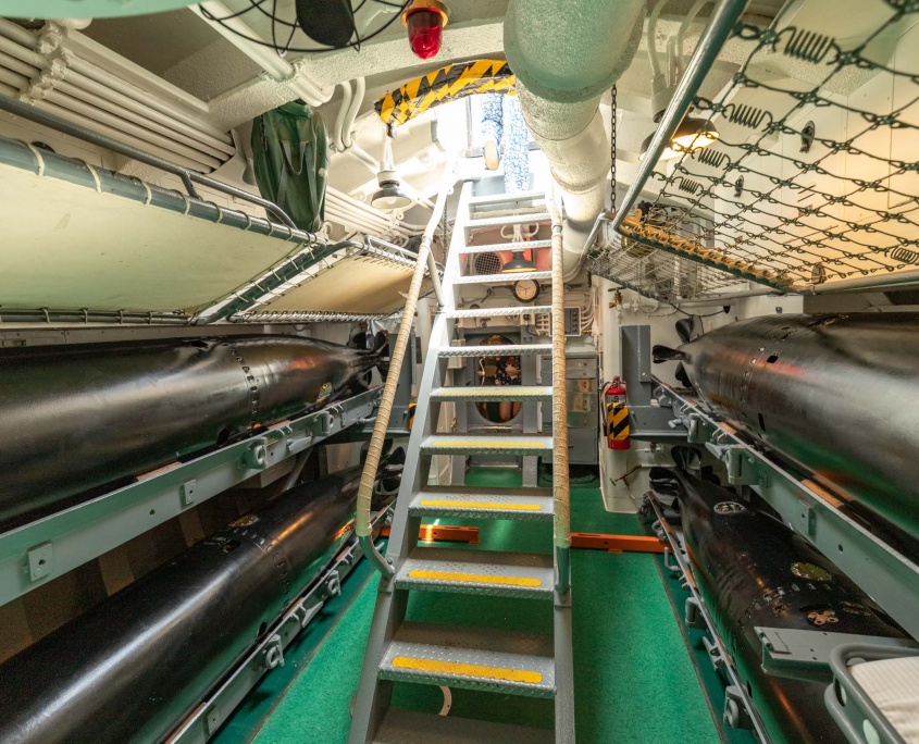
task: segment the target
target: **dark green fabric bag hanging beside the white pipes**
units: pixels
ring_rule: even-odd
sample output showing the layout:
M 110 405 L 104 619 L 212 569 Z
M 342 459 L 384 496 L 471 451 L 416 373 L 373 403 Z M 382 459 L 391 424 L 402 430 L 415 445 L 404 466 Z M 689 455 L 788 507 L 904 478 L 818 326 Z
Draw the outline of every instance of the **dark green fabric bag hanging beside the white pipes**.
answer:
M 252 122 L 256 182 L 262 197 L 281 207 L 295 224 L 315 232 L 325 221 L 328 140 L 322 116 L 294 101 Z

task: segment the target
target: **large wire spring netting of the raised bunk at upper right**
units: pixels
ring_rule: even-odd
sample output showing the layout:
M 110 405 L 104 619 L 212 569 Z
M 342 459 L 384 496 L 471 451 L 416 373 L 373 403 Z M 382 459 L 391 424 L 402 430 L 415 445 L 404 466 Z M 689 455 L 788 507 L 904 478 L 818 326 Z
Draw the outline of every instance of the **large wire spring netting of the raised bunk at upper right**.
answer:
M 919 2 L 792 8 L 735 26 L 690 114 L 718 138 L 674 144 L 620 232 L 779 289 L 881 285 L 919 266 Z

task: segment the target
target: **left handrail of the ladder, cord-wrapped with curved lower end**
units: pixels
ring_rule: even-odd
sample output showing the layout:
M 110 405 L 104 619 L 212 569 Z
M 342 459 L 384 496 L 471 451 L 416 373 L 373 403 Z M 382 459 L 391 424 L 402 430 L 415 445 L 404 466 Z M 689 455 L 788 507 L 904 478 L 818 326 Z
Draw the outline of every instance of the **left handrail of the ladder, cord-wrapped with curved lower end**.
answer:
M 370 438 L 370 446 L 368 448 L 367 460 L 364 462 L 360 488 L 358 491 L 358 511 L 355 531 L 357 532 L 358 540 L 360 541 L 361 549 L 364 551 L 364 555 L 367 555 L 376 570 L 380 571 L 385 579 L 393 576 L 395 571 L 373 544 L 372 528 L 370 523 L 370 503 L 373 496 L 373 484 L 376 479 L 376 469 L 380 467 L 380 459 L 383 454 L 383 444 L 386 439 L 387 429 L 389 427 L 389 418 L 393 413 L 393 401 L 396 397 L 396 389 L 399 385 L 402 361 L 406 357 L 406 348 L 408 347 L 409 337 L 411 336 L 411 327 L 414 323 L 418 298 L 421 294 L 421 285 L 424 280 L 424 273 L 429 268 L 431 243 L 434 239 L 434 231 L 440 222 L 440 215 L 446 209 L 447 196 L 450 194 L 454 184 L 456 183 L 456 176 L 454 173 L 455 163 L 456 159 L 452 156 L 449 156 L 447 158 L 447 163 L 444 166 L 444 184 L 437 195 L 434 211 L 431 213 L 431 220 L 424 228 L 424 235 L 421 238 L 421 246 L 419 246 L 418 249 L 414 273 L 412 274 L 411 286 L 409 287 L 408 297 L 406 298 L 406 307 L 402 310 L 402 320 L 399 323 L 399 332 L 396 336 L 396 343 L 393 345 L 389 370 L 386 375 L 386 383 L 383 386 L 383 396 L 380 400 L 380 409 L 376 413 L 376 422 L 373 425 L 373 434 Z M 436 276 L 436 268 L 432 269 L 432 276 Z M 443 297 L 438 296 L 438 300 L 442 299 Z

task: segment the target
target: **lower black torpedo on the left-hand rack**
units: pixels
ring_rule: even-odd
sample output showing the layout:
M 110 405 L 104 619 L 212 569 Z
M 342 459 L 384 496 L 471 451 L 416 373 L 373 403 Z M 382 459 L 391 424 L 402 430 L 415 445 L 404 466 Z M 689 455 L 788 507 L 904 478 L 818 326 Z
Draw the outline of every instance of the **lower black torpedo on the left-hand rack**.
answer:
M 0 741 L 166 739 L 348 534 L 359 474 L 295 487 L 0 665 Z

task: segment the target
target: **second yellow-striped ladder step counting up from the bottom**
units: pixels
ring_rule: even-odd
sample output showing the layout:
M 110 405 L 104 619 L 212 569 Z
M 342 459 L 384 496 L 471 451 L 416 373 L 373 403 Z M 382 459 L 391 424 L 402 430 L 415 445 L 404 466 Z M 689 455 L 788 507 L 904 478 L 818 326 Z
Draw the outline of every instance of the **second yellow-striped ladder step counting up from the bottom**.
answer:
M 551 599 L 550 554 L 417 547 L 396 573 L 396 587 Z

